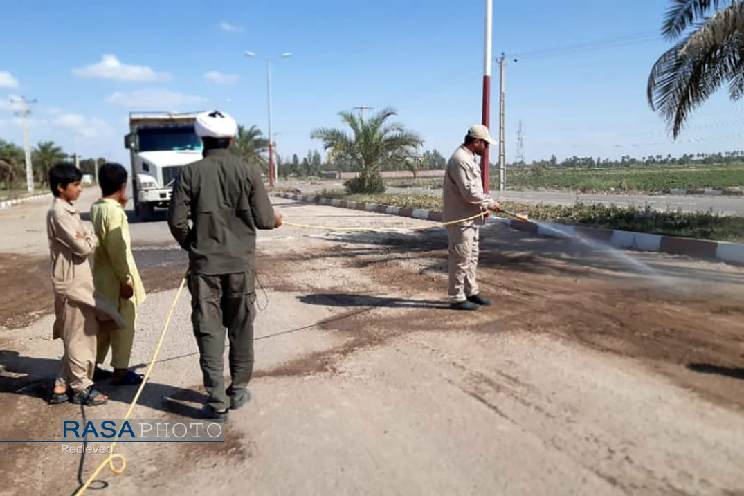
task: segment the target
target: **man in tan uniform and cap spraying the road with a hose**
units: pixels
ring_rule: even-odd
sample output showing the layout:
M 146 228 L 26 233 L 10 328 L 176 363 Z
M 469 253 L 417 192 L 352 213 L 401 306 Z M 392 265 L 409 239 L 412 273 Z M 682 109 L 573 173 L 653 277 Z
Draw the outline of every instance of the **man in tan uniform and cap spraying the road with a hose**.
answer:
M 444 173 L 444 222 L 483 214 L 481 219 L 447 226 L 449 306 L 455 310 L 477 310 L 479 306 L 491 304 L 478 292 L 475 271 L 478 268 L 478 230 L 488 215 L 487 210 L 498 212 L 498 203 L 483 190 L 481 169 L 475 155 L 483 155 L 488 145 L 495 143 L 486 126 L 472 126 L 465 135 L 465 142 L 449 158 Z

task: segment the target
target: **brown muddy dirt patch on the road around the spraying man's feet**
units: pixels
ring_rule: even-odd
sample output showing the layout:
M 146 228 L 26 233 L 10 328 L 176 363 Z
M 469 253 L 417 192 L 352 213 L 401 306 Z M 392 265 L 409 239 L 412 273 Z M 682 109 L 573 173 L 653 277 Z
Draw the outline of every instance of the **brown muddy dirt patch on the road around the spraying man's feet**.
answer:
M 452 312 L 443 300 L 446 251 L 436 245 L 336 246 L 263 257 L 261 265 L 265 286 L 304 293 L 304 303 L 371 311 L 319 325 L 346 335 L 344 344 L 258 376 L 335 373 L 350 352 L 408 332 L 536 332 L 636 358 L 707 399 L 744 407 L 744 301 L 736 295 L 680 294 L 644 279 L 502 255 L 479 269 L 494 305 Z

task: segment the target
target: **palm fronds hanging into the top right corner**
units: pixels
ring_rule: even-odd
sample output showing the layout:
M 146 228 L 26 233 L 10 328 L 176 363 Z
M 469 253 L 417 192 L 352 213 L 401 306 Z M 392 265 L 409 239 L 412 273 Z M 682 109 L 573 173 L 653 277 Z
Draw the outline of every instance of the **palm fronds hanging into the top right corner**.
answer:
M 661 33 L 679 41 L 653 65 L 647 94 L 677 138 L 690 112 L 724 83 L 731 100 L 744 94 L 744 1 L 672 0 Z

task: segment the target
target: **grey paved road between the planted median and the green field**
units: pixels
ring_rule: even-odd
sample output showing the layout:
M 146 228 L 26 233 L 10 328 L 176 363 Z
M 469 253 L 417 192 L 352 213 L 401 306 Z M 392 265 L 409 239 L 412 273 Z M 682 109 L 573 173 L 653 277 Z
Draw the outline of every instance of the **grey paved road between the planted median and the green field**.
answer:
M 341 182 L 328 182 L 322 184 L 298 184 L 286 183 L 290 187 L 296 187 L 304 193 L 327 189 L 341 188 Z M 425 188 L 388 188 L 390 193 L 426 193 L 441 195 L 441 190 Z M 683 212 L 708 212 L 720 213 L 722 215 L 744 216 L 744 196 L 698 196 L 698 195 L 617 195 L 597 193 L 571 193 L 565 191 L 491 191 L 496 199 L 509 200 L 511 202 L 527 203 L 550 203 L 568 205 L 574 202 L 634 205 L 635 207 L 646 207 L 655 210 L 682 210 Z

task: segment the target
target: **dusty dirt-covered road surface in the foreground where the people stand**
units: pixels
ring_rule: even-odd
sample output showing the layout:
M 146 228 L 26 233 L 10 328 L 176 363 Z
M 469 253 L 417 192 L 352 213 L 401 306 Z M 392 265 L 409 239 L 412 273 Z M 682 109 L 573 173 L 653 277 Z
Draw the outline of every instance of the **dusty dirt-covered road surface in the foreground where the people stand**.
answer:
M 85 211 L 95 192 L 80 200 Z M 426 221 L 275 199 L 321 225 Z M 45 396 L 48 202 L 0 210 L 0 439 L 59 439 L 75 405 Z M 132 224 L 150 297 L 132 364 L 155 346 L 185 271 L 162 221 Z M 636 263 L 490 225 L 481 290 L 446 308 L 446 234 L 260 233 L 253 399 L 226 442 L 129 443 L 89 494 L 744 494 L 744 268 L 661 254 Z M 187 294 L 135 417 L 201 406 Z M 100 388 L 120 418 L 133 387 Z M 82 477 L 103 459 L 88 454 Z M 71 494 L 81 455 L 0 443 L 0 495 Z

